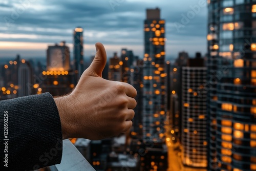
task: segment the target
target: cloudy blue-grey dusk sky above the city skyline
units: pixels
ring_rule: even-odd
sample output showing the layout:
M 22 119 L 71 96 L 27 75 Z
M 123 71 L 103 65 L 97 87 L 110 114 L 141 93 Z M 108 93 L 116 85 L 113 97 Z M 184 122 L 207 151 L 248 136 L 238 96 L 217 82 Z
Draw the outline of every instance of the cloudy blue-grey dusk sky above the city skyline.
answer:
M 161 9 L 166 20 L 166 55 L 179 51 L 191 56 L 206 52 L 207 7 L 191 14 L 191 6 L 201 0 L 1 0 L 0 58 L 44 57 L 48 45 L 66 40 L 73 49 L 73 30 L 84 29 L 84 54 L 95 53 L 97 41 L 105 45 L 108 56 L 121 48 L 143 55 L 143 20 L 147 8 Z M 189 15 L 182 24 L 182 15 Z M 184 21 L 183 21 L 184 22 Z M 180 28 L 177 29 L 177 26 Z M 72 55 L 73 56 L 73 55 Z

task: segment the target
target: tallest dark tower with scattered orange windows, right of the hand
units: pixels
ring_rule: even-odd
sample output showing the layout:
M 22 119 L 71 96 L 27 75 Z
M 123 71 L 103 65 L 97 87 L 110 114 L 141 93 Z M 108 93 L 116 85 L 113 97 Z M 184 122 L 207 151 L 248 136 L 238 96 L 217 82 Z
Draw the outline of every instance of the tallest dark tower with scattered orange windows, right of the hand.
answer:
M 144 20 L 143 140 L 162 143 L 166 117 L 165 21 L 160 9 L 147 9 Z

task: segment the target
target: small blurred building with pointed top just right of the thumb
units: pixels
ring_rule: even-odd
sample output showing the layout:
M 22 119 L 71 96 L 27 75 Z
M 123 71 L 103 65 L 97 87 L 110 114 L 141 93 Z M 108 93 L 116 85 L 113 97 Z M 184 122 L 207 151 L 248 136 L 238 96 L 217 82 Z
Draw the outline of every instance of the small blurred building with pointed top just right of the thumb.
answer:
M 122 64 L 123 63 L 117 56 L 117 53 L 114 53 L 114 56 L 109 60 L 109 80 L 121 81 Z

